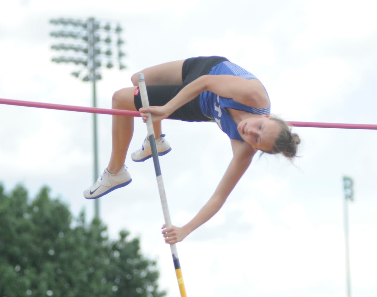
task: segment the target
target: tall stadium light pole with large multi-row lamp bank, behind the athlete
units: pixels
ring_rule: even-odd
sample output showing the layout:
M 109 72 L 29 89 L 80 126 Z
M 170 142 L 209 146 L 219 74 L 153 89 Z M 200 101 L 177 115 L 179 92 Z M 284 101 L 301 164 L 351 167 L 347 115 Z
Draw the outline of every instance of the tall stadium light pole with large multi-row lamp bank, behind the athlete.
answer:
M 74 56 L 60 56 L 52 58 L 57 63 L 74 63 L 80 65 L 81 69 L 71 74 L 81 78 L 84 82 L 92 82 L 93 86 L 93 107 L 97 107 L 96 81 L 102 78 L 101 66 L 103 59 L 106 60 L 106 67 L 113 68 L 115 58 L 119 70 L 126 68 L 121 59 L 126 55 L 121 46 L 124 41 L 120 34 L 123 31 L 120 24 L 112 24 L 110 21 L 102 22 L 95 18 L 77 20 L 72 18 L 51 19 L 50 23 L 59 26 L 60 30 L 50 33 L 55 38 L 64 38 L 64 41 L 51 46 L 53 50 L 64 50 L 73 53 Z M 116 52 L 116 55 L 113 55 Z M 93 182 L 97 180 L 98 169 L 98 142 L 97 142 L 97 114 L 93 114 Z M 94 200 L 94 215 L 100 217 L 99 200 Z

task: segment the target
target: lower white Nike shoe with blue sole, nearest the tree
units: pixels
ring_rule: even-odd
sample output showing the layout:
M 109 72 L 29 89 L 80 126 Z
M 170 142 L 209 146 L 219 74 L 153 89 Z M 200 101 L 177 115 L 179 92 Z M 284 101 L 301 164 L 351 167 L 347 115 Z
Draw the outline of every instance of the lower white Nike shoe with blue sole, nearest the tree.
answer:
M 86 199 L 100 198 L 115 189 L 127 186 L 130 182 L 132 182 L 132 179 L 126 165 L 115 174 L 110 173 L 106 168 L 97 182 L 84 191 L 84 197 Z

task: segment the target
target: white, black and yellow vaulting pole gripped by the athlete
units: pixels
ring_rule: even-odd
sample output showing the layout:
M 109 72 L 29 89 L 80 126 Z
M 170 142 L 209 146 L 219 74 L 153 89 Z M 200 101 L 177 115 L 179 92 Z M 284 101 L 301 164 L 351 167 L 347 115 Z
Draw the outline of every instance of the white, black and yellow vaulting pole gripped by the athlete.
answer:
M 147 88 L 146 88 L 143 73 L 138 74 L 138 82 L 139 82 L 141 103 L 142 103 L 144 108 L 148 108 L 149 107 L 149 100 L 148 100 Z M 156 139 L 155 139 L 155 133 L 154 133 L 154 130 L 153 130 L 153 123 L 152 123 L 151 115 L 149 115 L 149 117 L 147 118 L 146 123 L 147 123 L 147 130 L 148 130 L 148 136 L 147 137 L 149 138 L 150 148 L 152 150 L 153 164 L 155 166 L 155 171 L 156 171 L 157 185 L 158 185 L 158 191 L 159 191 L 160 199 L 161 199 L 162 211 L 164 213 L 165 225 L 166 225 L 166 227 L 170 227 L 170 226 L 172 226 L 172 222 L 170 220 L 169 209 L 168 209 L 168 206 L 167 206 L 164 183 L 162 182 L 162 175 L 161 175 L 160 164 L 159 164 L 159 161 L 158 161 Z M 181 297 L 187 297 L 185 285 L 184 285 L 184 282 L 183 282 L 182 272 L 181 272 L 181 265 L 179 264 L 178 252 L 177 252 L 176 245 L 170 244 L 170 250 L 171 250 L 172 256 L 173 256 L 173 262 L 174 262 L 175 273 L 176 273 L 177 280 L 178 280 L 179 292 L 181 292 Z

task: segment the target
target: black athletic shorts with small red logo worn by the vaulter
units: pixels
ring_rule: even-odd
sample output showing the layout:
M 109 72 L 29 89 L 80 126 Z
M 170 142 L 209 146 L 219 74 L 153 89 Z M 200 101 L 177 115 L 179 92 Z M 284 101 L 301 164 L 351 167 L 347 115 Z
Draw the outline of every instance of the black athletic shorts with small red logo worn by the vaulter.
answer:
M 182 66 L 182 81 L 183 85 L 180 86 L 169 86 L 169 85 L 157 85 L 157 86 L 147 86 L 148 99 L 150 106 L 162 106 L 167 102 L 172 100 L 176 94 L 178 94 L 181 89 L 197 79 L 199 76 L 208 74 L 212 67 L 219 64 L 220 62 L 228 61 L 224 57 L 211 56 L 211 57 L 196 57 L 189 58 L 183 62 Z M 185 105 L 178 108 L 175 112 L 169 115 L 168 118 L 188 121 L 188 122 L 201 122 L 210 120 L 206 115 L 204 115 L 199 106 L 199 97 L 191 100 Z M 142 107 L 140 92 L 134 96 L 135 107 L 139 110 Z

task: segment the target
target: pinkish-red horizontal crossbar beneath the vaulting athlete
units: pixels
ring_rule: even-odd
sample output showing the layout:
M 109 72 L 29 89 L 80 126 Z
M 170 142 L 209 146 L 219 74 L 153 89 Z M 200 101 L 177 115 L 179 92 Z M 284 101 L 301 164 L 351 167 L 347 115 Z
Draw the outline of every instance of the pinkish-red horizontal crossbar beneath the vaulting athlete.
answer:
M 36 108 L 47 108 L 47 109 L 58 109 L 58 110 L 65 110 L 65 111 L 90 112 L 93 114 L 128 115 L 130 117 L 140 117 L 140 112 L 138 111 L 126 111 L 126 110 L 121 110 L 121 109 L 106 109 L 106 108 L 97 108 L 97 107 L 61 105 L 61 104 L 53 104 L 53 103 L 21 101 L 21 100 L 2 99 L 2 98 L 0 98 L 0 104 L 36 107 Z M 346 123 L 317 123 L 317 122 L 296 122 L 296 121 L 288 121 L 287 123 L 295 127 L 377 130 L 377 124 L 374 125 L 374 124 L 346 124 Z

